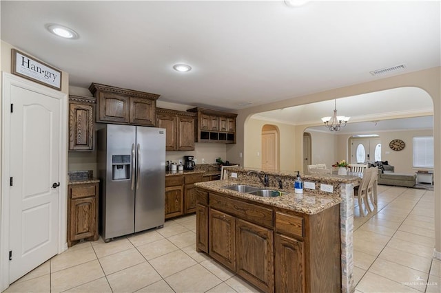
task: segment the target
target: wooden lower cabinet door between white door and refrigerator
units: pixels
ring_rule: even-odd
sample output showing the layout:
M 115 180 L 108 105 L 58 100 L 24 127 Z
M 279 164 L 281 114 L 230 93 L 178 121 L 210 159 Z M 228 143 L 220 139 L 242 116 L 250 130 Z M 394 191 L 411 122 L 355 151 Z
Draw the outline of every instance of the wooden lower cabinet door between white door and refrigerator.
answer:
M 85 197 L 70 200 L 70 241 L 76 241 L 96 234 L 96 200 Z

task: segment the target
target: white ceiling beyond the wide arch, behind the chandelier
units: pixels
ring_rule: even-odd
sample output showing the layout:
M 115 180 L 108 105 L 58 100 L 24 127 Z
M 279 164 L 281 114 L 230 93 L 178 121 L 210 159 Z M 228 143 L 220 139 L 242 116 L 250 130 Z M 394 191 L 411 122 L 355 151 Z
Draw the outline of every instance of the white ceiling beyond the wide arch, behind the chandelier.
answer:
M 333 111 L 334 100 L 327 100 L 257 113 L 252 117 L 293 125 L 316 124 L 320 126 L 309 129 L 327 131 L 320 118 L 332 116 Z M 401 87 L 339 98 L 337 114 L 351 117 L 347 126 L 338 131 L 338 134 L 433 129 L 433 102 L 426 91 L 417 87 Z

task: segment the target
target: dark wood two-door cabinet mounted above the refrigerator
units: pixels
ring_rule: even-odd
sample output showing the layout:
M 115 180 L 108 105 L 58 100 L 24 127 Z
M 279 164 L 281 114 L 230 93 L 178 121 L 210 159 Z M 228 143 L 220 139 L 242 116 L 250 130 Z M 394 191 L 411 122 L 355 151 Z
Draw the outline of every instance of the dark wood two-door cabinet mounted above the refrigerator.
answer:
M 92 83 L 96 122 L 156 126 L 157 94 Z

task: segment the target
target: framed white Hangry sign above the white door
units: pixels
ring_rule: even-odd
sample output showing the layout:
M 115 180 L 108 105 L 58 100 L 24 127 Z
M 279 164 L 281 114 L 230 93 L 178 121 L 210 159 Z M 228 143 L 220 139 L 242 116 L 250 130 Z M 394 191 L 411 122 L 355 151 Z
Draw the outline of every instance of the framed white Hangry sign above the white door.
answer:
M 12 49 L 12 74 L 61 91 L 61 71 Z

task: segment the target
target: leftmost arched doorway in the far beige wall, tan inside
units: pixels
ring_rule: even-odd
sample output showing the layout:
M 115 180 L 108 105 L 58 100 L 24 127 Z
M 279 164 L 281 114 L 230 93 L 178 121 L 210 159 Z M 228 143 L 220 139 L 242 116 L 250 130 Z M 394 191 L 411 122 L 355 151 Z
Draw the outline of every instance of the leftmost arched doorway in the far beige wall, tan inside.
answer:
M 279 171 L 279 131 L 271 124 L 262 127 L 262 170 Z

